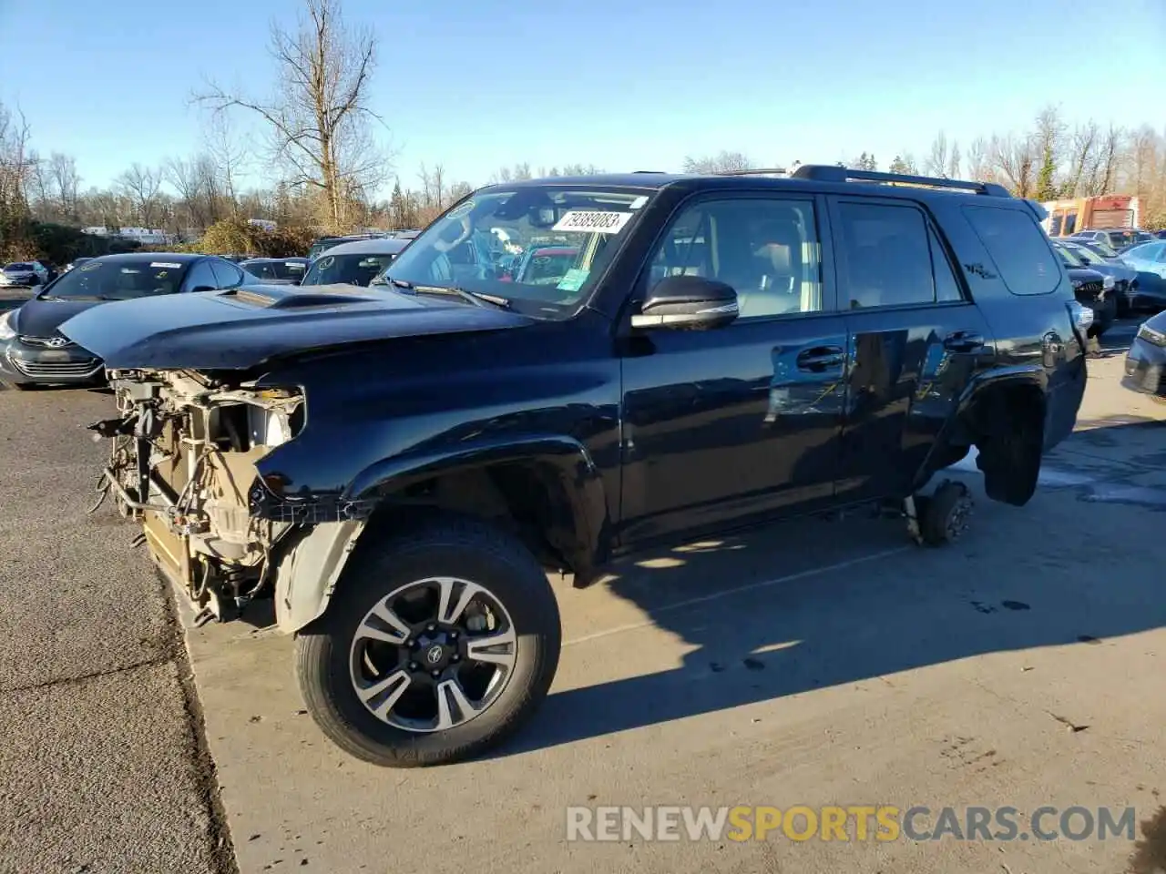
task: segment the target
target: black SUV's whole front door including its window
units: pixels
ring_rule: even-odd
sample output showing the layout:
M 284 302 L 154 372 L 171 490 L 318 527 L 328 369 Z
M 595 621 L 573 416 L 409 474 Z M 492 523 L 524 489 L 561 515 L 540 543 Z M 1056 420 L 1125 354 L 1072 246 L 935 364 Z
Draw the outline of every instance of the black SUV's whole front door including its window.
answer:
M 640 277 L 732 286 L 737 320 L 653 330 L 623 350 L 621 545 L 829 503 L 847 333 L 820 203 L 735 193 L 681 210 Z

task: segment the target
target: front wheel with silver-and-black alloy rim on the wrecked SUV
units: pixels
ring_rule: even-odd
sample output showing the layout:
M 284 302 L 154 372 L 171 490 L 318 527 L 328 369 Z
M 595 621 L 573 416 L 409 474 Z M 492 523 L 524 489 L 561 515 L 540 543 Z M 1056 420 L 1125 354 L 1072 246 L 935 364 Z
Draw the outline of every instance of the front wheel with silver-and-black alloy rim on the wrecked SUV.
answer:
M 298 635 L 300 689 L 351 755 L 444 764 L 499 743 L 559 667 L 559 605 L 517 540 L 442 520 L 358 548 L 328 612 Z

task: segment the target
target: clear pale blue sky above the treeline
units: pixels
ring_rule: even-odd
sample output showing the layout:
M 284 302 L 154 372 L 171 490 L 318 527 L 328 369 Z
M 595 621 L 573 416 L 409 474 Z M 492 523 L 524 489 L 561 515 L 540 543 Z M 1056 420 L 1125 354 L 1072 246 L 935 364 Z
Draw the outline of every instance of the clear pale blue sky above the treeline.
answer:
M 0 100 L 82 185 L 189 155 L 204 77 L 262 96 L 269 23 L 300 0 L 0 0 Z M 764 164 L 926 154 L 1067 120 L 1166 127 L 1166 0 L 345 0 L 380 37 L 371 104 L 396 172 L 422 161 L 483 184 L 503 164 L 680 169 L 740 150 Z M 258 140 L 239 117 L 238 134 Z M 257 162 L 261 172 L 262 162 Z

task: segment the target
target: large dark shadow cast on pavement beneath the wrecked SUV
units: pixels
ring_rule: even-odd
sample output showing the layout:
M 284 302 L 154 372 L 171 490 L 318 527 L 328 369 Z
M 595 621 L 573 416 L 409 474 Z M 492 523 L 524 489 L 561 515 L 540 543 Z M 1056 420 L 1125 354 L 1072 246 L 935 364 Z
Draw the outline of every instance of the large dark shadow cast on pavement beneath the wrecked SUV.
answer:
M 1161 423 L 1097 430 L 1115 442 L 1128 434 L 1137 452 L 1147 428 L 1164 434 Z M 559 678 L 567 688 L 494 755 L 1166 626 L 1157 516 L 1073 487 L 1041 487 L 1027 507 L 1009 507 L 983 496 L 977 474 L 953 478 L 977 500 L 956 544 L 914 547 L 901 520 L 809 519 L 618 568 L 600 585 L 640 619 L 568 634 Z M 585 609 L 588 595 L 561 592 L 564 615 Z M 663 669 L 618 676 L 628 665 Z

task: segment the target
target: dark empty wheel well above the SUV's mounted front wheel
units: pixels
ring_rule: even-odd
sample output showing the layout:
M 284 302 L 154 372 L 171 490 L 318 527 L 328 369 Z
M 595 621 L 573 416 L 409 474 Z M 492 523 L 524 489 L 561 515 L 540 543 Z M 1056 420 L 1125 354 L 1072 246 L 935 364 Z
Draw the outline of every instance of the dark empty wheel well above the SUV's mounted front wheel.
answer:
M 507 531 L 545 568 L 575 570 L 576 520 L 550 465 L 504 463 L 416 480 L 387 494 L 368 528 L 400 531 L 450 515 L 477 519 Z

